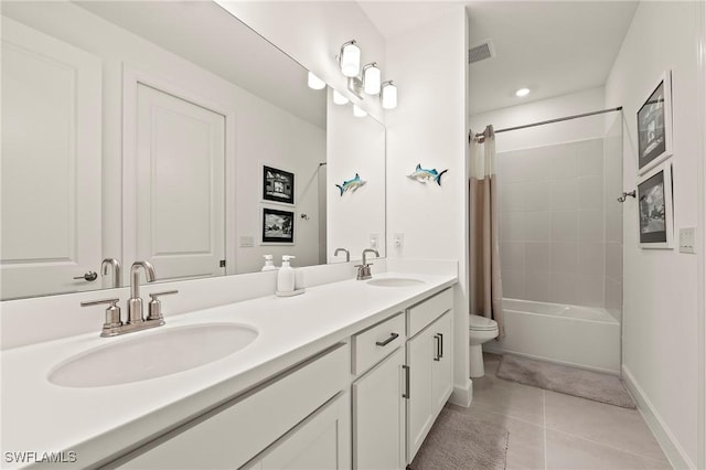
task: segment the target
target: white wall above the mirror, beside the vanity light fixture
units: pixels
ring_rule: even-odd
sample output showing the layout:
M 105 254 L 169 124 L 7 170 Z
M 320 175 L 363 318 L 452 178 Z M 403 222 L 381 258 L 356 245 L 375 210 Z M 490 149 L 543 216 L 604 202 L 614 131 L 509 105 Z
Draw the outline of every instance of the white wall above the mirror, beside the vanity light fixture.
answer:
M 347 79 L 341 74 L 335 58 L 343 43 L 355 40 L 361 47 L 361 65 L 377 62 L 383 71 L 383 81 L 396 78 L 385 67 L 385 40 L 356 2 L 215 1 L 331 87 L 384 121 L 376 97 L 361 102 L 347 90 Z

